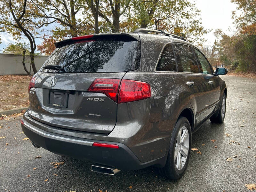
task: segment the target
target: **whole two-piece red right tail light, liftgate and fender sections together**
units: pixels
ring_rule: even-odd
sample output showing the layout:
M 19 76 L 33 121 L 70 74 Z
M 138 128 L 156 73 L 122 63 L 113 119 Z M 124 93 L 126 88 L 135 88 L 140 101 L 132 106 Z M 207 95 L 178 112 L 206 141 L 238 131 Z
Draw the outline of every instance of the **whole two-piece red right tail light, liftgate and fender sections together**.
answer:
M 97 78 L 87 91 L 104 93 L 116 103 L 132 102 L 151 97 L 148 83 L 128 79 L 121 81 L 121 79 Z

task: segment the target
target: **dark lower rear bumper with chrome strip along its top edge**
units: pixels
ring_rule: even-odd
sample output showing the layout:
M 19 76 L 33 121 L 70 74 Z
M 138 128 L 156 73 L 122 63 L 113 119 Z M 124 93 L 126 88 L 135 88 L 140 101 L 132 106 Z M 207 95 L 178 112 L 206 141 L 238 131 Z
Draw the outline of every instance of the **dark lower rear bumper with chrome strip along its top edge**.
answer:
M 22 119 L 24 134 L 36 145 L 63 156 L 82 158 L 98 164 L 109 165 L 120 170 L 136 170 L 157 164 L 164 166 L 166 156 L 148 162 L 140 162 L 123 143 L 77 138 L 47 132 Z M 92 146 L 93 142 L 116 144 L 119 149 Z

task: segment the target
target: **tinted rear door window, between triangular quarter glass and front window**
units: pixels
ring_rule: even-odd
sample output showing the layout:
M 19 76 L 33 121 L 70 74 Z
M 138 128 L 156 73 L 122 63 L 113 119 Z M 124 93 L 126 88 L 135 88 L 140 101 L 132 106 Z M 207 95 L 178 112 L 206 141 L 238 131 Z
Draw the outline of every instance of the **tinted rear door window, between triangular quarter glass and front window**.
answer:
M 175 44 L 175 54 L 179 72 L 199 73 L 196 59 L 190 46 Z

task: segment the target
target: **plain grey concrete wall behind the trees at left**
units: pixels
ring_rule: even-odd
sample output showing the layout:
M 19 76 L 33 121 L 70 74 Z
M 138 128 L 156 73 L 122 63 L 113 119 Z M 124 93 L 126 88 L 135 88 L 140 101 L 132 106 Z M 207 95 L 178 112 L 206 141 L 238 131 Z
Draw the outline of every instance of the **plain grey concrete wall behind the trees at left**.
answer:
M 36 69 L 39 70 L 49 56 L 35 56 Z M 30 56 L 25 56 L 27 70 L 30 68 Z M 0 53 L 0 75 L 23 75 L 27 74 L 22 65 L 22 55 Z M 31 67 L 31 74 L 33 69 Z

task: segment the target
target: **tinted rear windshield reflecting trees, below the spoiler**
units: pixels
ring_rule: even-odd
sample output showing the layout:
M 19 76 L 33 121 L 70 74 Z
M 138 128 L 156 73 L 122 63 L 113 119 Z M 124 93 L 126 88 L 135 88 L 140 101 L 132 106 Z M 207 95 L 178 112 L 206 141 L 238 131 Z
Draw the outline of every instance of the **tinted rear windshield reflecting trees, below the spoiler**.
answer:
M 64 70 L 44 69 L 60 65 Z M 85 73 L 124 72 L 140 67 L 140 42 L 131 39 L 78 41 L 56 48 L 45 61 L 41 72 Z

